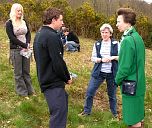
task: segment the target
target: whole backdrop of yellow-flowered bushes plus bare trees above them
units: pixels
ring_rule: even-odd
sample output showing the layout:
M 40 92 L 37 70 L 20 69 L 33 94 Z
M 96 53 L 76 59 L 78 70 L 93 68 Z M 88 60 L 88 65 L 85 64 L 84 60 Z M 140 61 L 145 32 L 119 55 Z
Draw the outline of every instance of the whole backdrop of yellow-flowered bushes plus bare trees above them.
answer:
M 48 7 L 57 7 L 64 13 L 65 25 L 78 35 L 99 39 L 100 26 L 103 23 L 110 23 L 114 29 L 114 38 L 120 39 L 121 33 L 119 33 L 116 28 L 116 10 L 119 7 L 131 7 L 137 12 L 137 23 L 135 26 L 137 31 L 143 37 L 145 46 L 152 48 L 152 22 L 148 14 L 141 11 L 138 13 L 139 10 L 136 8 L 137 5 L 139 5 L 137 4 L 138 0 L 76 0 L 75 2 L 77 4 L 74 1 L 75 0 L 1 0 L 0 20 L 5 23 L 6 20 L 9 19 L 9 11 L 12 3 L 18 2 L 24 7 L 24 17 L 29 23 L 30 29 L 37 31 L 42 25 L 43 11 Z M 145 7 L 148 5 L 145 2 L 143 3 Z M 136 6 L 133 6 L 134 4 L 136 4 Z M 151 5 L 149 6 L 152 7 Z M 144 11 L 147 9 L 142 8 Z

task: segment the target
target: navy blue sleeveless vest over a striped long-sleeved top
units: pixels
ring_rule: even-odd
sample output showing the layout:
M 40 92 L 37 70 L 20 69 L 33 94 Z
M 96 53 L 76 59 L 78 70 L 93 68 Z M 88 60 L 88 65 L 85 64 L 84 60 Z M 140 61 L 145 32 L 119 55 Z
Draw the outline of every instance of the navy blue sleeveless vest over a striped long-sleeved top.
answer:
M 114 44 L 112 43 L 114 40 L 111 39 L 111 51 L 110 51 L 110 55 L 111 56 L 118 56 L 118 43 Z M 99 45 L 97 45 L 97 43 Z M 98 58 L 102 58 L 101 54 L 100 54 L 100 48 L 102 45 L 102 40 L 99 40 L 97 42 L 95 42 L 95 46 L 96 46 L 96 52 L 97 52 L 97 57 Z M 101 70 L 101 66 L 102 66 L 102 62 L 100 63 L 95 63 L 93 70 L 92 70 L 92 77 L 98 78 L 99 74 L 100 74 L 100 70 Z M 112 67 L 111 67 L 111 71 L 113 76 L 116 76 L 118 70 L 118 61 L 117 60 L 112 60 Z

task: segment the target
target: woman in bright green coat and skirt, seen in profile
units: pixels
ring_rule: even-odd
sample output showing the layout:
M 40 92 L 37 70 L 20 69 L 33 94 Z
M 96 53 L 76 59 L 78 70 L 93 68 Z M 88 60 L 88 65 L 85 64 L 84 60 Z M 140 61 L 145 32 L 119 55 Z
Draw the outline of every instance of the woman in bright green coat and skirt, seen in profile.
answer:
M 115 80 L 121 89 L 122 81 L 124 79 L 137 81 L 136 94 L 134 96 L 122 93 L 123 120 L 129 128 L 143 128 L 145 114 L 144 97 L 146 90 L 145 46 L 141 36 L 133 27 L 136 23 L 136 14 L 133 10 L 129 8 L 120 8 L 117 11 L 117 15 L 116 26 L 120 32 L 123 32 L 123 35 L 119 52 L 118 72 Z M 136 64 L 138 71 L 136 71 Z M 136 77 L 136 72 L 138 72 L 138 77 Z

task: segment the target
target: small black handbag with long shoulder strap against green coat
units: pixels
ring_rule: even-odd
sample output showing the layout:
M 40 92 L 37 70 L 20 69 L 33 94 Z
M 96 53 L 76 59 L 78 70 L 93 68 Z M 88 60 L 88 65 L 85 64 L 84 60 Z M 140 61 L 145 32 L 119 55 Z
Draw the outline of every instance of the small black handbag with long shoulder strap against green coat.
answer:
M 137 66 L 137 50 L 136 50 L 136 43 L 135 43 L 135 39 L 132 36 L 133 40 L 134 40 L 134 44 L 135 44 L 135 58 L 136 58 L 136 80 L 123 80 L 122 81 L 122 94 L 126 94 L 126 95 L 130 95 L 130 96 L 134 96 L 136 95 L 136 89 L 137 89 L 137 83 L 138 83 L 138 66 Z

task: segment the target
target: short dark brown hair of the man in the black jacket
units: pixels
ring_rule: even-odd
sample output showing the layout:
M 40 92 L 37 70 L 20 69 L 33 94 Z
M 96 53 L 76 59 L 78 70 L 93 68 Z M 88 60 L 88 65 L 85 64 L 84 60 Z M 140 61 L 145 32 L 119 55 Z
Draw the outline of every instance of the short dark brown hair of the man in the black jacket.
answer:
M 58 19 L 60 15 L 62 15 L 62 11 L 57 8 L 48 8 L 43 13 L 43 24 L 48 25 L 51 24 L 52 19 Z

